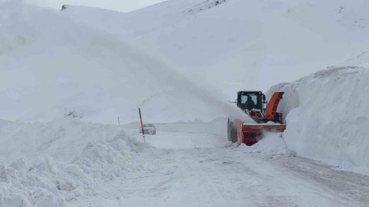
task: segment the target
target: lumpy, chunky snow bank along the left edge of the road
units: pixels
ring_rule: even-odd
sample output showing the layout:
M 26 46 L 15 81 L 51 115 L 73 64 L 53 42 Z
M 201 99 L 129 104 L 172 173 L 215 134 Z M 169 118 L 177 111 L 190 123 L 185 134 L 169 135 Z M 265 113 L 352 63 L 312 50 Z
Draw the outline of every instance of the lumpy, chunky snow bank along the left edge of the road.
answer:
M 90 142 L 71 163 L 45 155 L 35 161 L 22 158 L 0 164 L 1 207 L 64 207 L 66 201 L 114 180 L 123 173 L 142 169 L 120 135 L 107 143 Z

